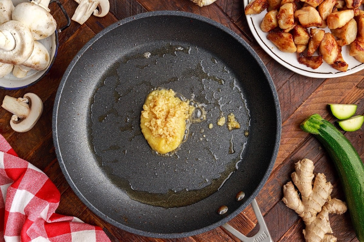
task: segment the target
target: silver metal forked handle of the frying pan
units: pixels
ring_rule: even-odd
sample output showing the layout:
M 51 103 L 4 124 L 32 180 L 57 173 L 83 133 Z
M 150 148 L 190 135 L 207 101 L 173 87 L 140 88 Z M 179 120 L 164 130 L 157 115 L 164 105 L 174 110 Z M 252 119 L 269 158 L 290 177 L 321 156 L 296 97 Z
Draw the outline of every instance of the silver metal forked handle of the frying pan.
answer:
M 222 227 L 243 242 L 256 242 L 256 241 L 273 242 L 272 237 L 269 234 L 267 225 L 264 221 L 263 215 L 260 212 L 260 209 L 258 207 L 257 201 L 255 199 L 253 199 L 251 204 L 253 207 L 254 214 L 257 217 L 257 220 L 258 220 L 258 223 L 260 226 L 260 229 L 257 234 L 255 234 L 253 237 L 246 237 L 244 234 L 240 233 L 238 230 L 234 229 L 232 226 L 228 225 L 227 223 L 222 225 Z

